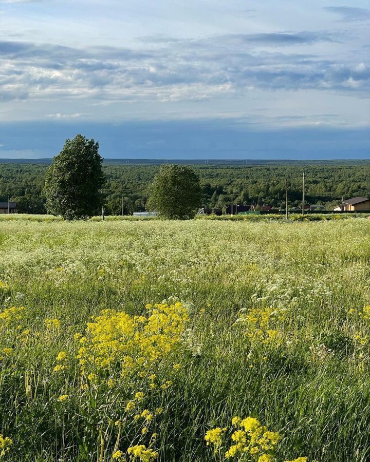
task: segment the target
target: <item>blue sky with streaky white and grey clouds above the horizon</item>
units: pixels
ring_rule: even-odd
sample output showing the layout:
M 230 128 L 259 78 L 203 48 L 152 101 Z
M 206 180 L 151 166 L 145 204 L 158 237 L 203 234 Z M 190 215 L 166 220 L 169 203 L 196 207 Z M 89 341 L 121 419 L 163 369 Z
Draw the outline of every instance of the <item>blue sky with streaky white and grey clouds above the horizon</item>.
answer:
M 0 158 L 369 159 L 369 26 L 367 0 L 0 0 Z

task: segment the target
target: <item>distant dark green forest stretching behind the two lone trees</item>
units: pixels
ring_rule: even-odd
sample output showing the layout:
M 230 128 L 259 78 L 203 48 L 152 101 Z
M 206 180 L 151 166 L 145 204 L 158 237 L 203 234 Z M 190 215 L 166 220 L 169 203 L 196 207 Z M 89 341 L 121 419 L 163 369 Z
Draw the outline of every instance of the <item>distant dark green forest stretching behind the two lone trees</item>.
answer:
M 305 171 L 305 201 L 331 209 L 344 199 L 370 197 L 370 162 L 348 161 L 260 165 L 193 165 L 202 190 L 204 207 L 224 208 L 231 198 L 249 205 L 269 204 L 285 208 L 285 178 L 288 207 L 302 203 Z M 21 213 L 46 213 L 43 185 L 47 164 L 0 163 L 0 201 L 17 202 Z M 159 165 L 103 164 L 106 183 L 102 204 L 107 215 L 145 210 L 148 186 Z

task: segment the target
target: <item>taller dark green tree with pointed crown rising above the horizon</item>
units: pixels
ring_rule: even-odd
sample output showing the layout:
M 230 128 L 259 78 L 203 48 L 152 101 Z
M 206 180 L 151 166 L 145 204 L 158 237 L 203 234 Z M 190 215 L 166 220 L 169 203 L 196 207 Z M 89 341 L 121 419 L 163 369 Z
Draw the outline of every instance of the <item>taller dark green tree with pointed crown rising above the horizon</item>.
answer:
M 72 220 L 98 213 L 104 184 L 99 143 L 78 134 L 67 139 L 45 175 L 46 208 L 49 213 Z

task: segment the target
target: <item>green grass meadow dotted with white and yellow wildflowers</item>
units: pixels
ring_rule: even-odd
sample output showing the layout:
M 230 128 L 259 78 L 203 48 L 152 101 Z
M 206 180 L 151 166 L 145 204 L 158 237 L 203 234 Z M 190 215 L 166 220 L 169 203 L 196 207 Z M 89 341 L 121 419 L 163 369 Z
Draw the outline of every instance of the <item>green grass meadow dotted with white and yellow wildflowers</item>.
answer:
M 1 220 L 0 460 L 369 460 L 369 235 Z

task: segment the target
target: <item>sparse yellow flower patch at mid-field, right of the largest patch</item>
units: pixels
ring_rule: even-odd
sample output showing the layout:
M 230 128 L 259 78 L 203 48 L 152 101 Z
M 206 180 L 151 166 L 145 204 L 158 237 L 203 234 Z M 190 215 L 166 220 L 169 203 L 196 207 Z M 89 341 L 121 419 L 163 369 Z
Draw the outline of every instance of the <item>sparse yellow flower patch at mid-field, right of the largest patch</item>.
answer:
M 281 321 L 286 316 L 286 310 L 272 307 L 251 308 L 247 314 L 242 314 L 238 322 L 247 326 L 247 336 L 252 341 L 270 343 L 278 336 L 279 331 L 271 329 L 272 324 Z

